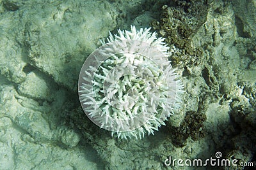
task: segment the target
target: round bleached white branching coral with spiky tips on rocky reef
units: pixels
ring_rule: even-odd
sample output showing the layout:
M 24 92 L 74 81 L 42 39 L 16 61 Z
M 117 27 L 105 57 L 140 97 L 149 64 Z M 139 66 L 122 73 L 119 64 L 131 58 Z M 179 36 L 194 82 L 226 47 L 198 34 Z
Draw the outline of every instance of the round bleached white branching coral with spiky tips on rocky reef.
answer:
M 150 28 L 109 34 L 81 69 L 84 112 L 118 138 L 154 134 L 179 107 L 183 92 L 168 61 L 169 48 Z

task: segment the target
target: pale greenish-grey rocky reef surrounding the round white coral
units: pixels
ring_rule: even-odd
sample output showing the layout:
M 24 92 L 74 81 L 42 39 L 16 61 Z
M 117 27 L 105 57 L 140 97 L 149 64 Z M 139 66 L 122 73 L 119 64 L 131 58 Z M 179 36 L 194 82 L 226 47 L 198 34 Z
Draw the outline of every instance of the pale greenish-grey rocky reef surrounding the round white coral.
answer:
M 164 160 L 216 152 L 255 165 L 255 8 L 255 0 L 0 1 L 0 169 L 180 169 Z M 130 25 L 165 38 L 185 94 L 154 136 L 121 140 L 86 117 L 77 80 L 99 39 Z

